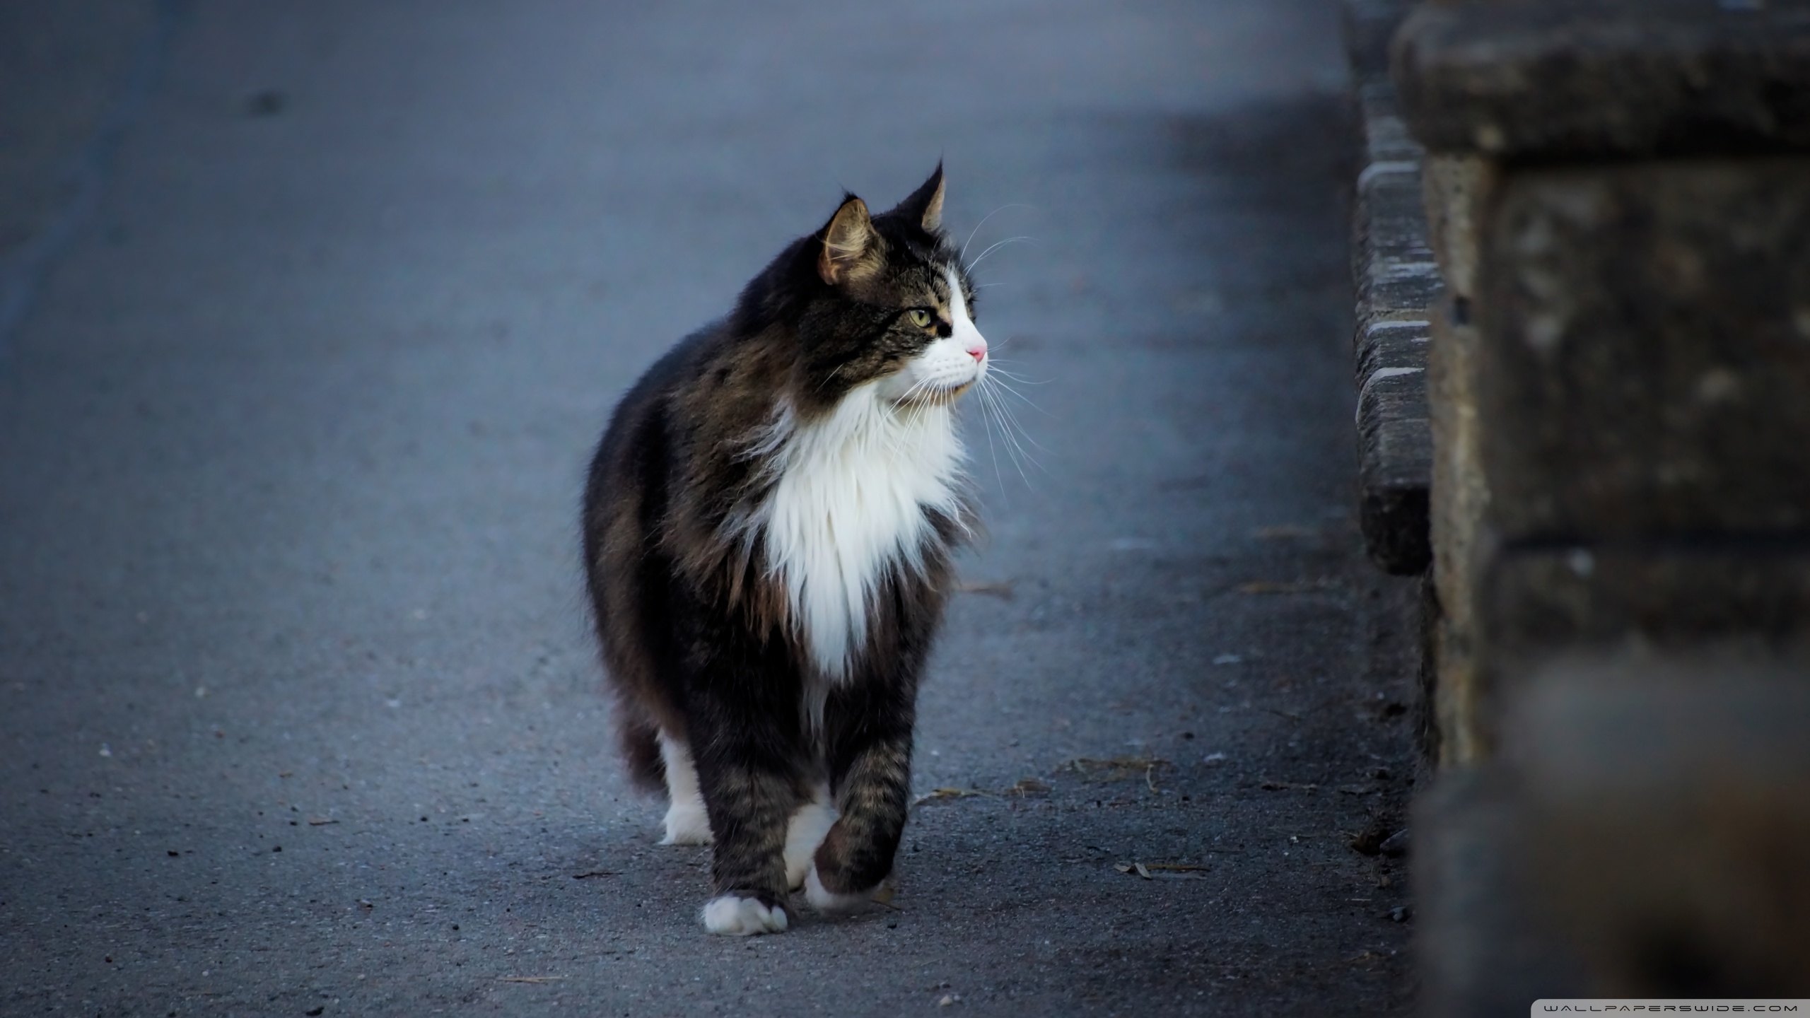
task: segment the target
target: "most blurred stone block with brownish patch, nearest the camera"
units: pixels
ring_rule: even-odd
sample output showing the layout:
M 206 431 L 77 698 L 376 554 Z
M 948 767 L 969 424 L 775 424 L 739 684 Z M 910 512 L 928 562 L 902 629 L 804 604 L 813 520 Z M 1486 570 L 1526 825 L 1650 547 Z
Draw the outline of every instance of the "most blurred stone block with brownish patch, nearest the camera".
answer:
M 1810 670 L 1739 658 L 1575 659 L 1515 697 L 1529 893 L 1600 994 L 1810 994 L 1806 730 Z

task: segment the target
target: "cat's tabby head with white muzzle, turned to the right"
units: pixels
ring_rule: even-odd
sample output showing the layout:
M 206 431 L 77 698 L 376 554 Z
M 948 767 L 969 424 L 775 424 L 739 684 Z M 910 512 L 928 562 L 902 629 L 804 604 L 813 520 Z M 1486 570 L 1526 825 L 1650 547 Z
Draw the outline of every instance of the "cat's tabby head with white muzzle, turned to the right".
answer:
M 880 216 L 845 196 L 793 257 L 805 404 L 867 384 L 892 404 L 947 404 L 986 375 L 974 284 L 943 234 L 943 167 Z

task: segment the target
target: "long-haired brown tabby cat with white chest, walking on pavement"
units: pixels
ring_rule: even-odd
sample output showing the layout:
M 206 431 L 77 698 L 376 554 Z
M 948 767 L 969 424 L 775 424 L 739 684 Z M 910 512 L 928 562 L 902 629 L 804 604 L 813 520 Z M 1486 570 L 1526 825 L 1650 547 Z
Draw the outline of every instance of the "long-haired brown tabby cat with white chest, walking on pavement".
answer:
M 711 933 L 860 908 L 910 804 L 918 679 L 970 533 L 954 402 L 986 373 L 943 168 L 845 196 L 617 406 L 585 567 L 666 844 L 713 842 Z

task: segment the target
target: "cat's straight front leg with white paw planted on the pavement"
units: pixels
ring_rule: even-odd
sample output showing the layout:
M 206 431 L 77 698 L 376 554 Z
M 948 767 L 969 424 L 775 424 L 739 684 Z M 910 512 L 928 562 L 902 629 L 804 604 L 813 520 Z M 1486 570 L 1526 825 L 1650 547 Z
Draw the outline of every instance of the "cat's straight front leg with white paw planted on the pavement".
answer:
M 708 750 L 704 746 L 710 746 Z M 733 735 L 697 744 L 699 784 L 715 850 L 704 929 L 729 936 L 784 933 L 786 835 L 805 795 L 796 773 Z

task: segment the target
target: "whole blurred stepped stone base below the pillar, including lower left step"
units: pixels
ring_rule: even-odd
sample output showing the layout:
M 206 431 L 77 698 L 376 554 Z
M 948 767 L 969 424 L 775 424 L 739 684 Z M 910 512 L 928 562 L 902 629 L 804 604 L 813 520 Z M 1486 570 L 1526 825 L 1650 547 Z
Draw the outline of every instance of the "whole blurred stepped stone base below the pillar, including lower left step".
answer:
M 1415 802 L 1421 1011 L 1810 993 L 1810 672 L 1555 661 Z

